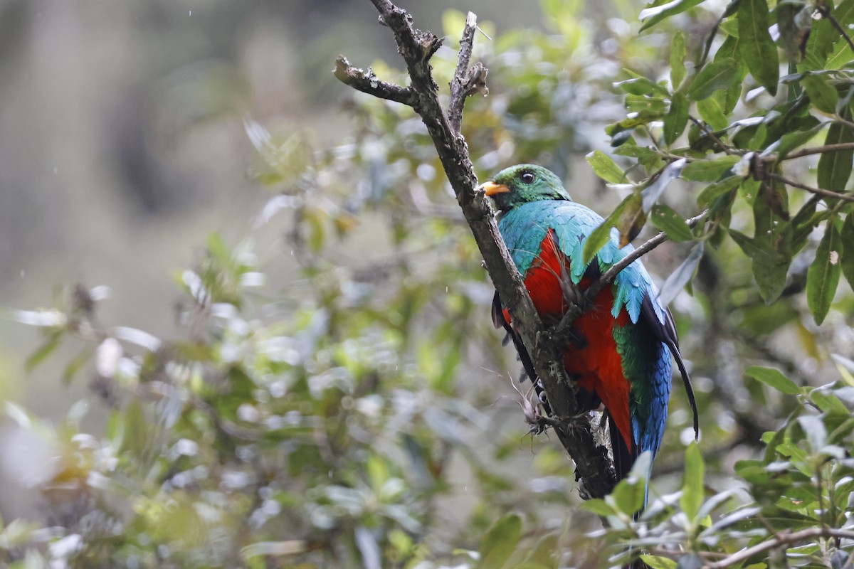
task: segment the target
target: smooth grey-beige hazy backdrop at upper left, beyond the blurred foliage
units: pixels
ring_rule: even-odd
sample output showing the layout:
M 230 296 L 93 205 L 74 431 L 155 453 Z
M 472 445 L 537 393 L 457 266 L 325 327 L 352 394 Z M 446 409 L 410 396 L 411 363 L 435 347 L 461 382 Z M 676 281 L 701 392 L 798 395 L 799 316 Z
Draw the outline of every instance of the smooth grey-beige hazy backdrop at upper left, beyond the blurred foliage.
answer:
M 455 5 L 401 3 L 428 29 Z M 459 7 L 541 25 L 535 5 Z M 330 71 L 342 52 L 395 55 L 370 3 L 0 0 L 0 305 L 103 284 L 109 319 L 173 332 L 173 272 L 208 233 L 245 235 L 270 197 L 243 120 L 319 147 L 353 131 Z M 24 372 L 37 340 L 0 322 L 0 393 L 56 415 L 79 389 Z

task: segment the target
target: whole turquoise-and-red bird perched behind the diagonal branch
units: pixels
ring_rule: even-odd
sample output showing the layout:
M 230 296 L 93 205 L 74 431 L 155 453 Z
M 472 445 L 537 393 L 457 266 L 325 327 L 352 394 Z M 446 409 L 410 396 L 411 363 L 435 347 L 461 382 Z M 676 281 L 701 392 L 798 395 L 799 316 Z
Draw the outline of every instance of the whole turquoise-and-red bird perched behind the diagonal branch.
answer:
M 621 249 L 617 229 L 611 229 L 611 240 L 583 264 L 584 243 L 603 219 L 572 201 L 559 177 L 541 166 L 512 166 L 481 188 L 498 209 L 501 236 L 544 322 L 558 322 L 564 315 L 568 291 L 583 291 L 633 251 L 630 245 Z M 498 293 L 493 319 L 511 335 L 525 372 L 536 384 L 529 355 Z M 596 409 L 601 402 L 607 410 L 618 479 L 629 473 L 641 452 L 658 452 L 670 400 L 671 356 L 685 382 L 696 433 L 697 409 L 673 317 L 659 303 L 658 289 L 640 260 L 623 269 L 573 323 L 564 367 L 581 387 L 582 409 Z

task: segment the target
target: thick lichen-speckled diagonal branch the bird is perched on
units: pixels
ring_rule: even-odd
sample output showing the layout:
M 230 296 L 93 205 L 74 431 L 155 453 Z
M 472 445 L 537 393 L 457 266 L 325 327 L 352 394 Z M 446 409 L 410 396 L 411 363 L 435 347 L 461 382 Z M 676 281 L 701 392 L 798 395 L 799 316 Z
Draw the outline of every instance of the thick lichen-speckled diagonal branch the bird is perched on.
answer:
M 576 386 L 566 376 L 561 351 L 553 342 L 538 341 L 545 328 L 524 287 L 522 276 L 501 239 L 492 208 L 483 193 L 476 190 L 477 177 L 465 140 L 459 135 L 459 124 L 451 125 L 439 103 L 436 93 L 438 87 L 431 75 L 430 56 L 436 52 L 441 40 L 430 32 L 413 28 L 412 17 L 390 0 L 371 0 L 371 3 L 380 13 L 383 25 L 395 34 L 398 51 L 407 63 L 411 79 L 408 88 L 412 91 L 411 106 L 430 133 L 447 179 L 486 261 L 489 276 L 510 310 L 513 325 L 518 329 L 524 344 L 535 348 L 529 350 L 534 368 L 546 390 L 555 418 L 560 421 L 554 427 L 555 433 L 576 462 L 580 493 L 582 496 L 605 496 L 617 482 L 608 451 L 594 440 L 589 415 L 576 419 L 579 414 Z M 466 40 L 464 37 L 461 44 L 471 44 L 473 41 L 476 26 L 471 26 L 471 32 L 468 32 L 469 27 L 466 26 L 466 32 L 471 33 L 472 39 Z M 468 55 L 461 55 L 461 59 L 463 57 L 471 57 L 471 51 Z M 466 67 L 465 61 L 459 62 L 459 77 L 465 78 L 459 84 L 453 103 L 459 107 L 459 113 L 462 113 L 461 103 L 465 96 L 471 94 L 472 89 L 477 90 L 486 75 L 483 66 L 476 65 L 472 70 L 466 70 Z

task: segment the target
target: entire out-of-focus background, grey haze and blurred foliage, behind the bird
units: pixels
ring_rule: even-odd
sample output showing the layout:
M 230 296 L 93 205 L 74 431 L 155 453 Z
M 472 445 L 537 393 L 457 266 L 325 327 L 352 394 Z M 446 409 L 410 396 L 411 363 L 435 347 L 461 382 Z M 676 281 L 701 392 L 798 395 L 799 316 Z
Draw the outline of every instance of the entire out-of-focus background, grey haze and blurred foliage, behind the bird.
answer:
M 667 76 L 670 35 L 639 35 L 640 5 L 400 4 L 447 36 L 442 90 L 466 10 L 489 36 L 475 60 L 490 94 L 464 115 L 479 177 L 538 162 L 596 211 L 617 205 L 627 190 L 583 157 L 609 149 L 605 125 L 626 116 L 623 69 Z M 689 57 L 721 11 L 668 24 Z M 558 442 L 526 438 L 518 363 L 423 125 L 339 84 L 338 54 L 405 80 L 367 0 L 0 0 L 0 401 L 27 409 L 0 432 L 5 520 L 108 536 L 108 553 L 85 550 L 102 566 L 237 566 L 289 547 L 313 566 L 376 567 L 380 548 L 413 566 L 475 549 L 509 511 L 531 543 L 549 531 L 575 547 L 600 527 Z M 663 200 L 695 215 L 698 187 L 674 183 Z M 733 227 L 751 224 L 740 206 Z M 646 266 L 667 276 L 687 250 L 668 243 Z M 818 329 L 793 296 L 811 247 L 793 295 L 770 307 L 734 251 L 710 251 L 694 295 L 672 304 L 717 489 L 740 484 L 734 463 L 792 408 L 742 370 L 770 363 L 818 385 L 828 352 L 854 341 L 844 311 Z M 15 322 L 53 306 L 70 320 Z M 653 496 L 681 479 L 686 409 L 677 382 Z M 57 537 L 32 543 L 44 553 Z M 283 537 L 294 543 L 242 549 Z M 576 566 L 605 563 L 599 543 L 576 551 Z

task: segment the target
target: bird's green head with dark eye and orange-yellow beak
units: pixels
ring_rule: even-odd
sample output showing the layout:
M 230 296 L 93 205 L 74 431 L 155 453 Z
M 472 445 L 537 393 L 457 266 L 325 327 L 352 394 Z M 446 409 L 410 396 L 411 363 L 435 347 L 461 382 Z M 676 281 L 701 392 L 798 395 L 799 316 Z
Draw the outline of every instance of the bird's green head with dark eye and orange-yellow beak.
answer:
M 495 203 L 499 212 L 509 212 L 513 207 L 529 201 L 572 200 L 552 171 L 533 164 L 519 164 L 506 168 L 491 182 L 480 187 Z

